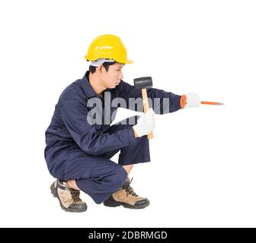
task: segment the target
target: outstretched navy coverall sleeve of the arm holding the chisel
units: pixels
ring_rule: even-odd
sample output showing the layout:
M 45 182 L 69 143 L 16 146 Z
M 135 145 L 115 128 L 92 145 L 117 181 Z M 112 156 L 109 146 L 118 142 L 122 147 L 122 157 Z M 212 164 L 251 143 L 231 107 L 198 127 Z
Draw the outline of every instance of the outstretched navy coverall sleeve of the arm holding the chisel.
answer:
M 180 101 L 181 96 L 165 90 L 158 90 L 155 88 L 147 88 L 147 95 L 149 100 L 149 106 L 151 106 L 156 114 L 165 114 L 168 112 L 176 112 L 181 109 Z M 133 85 L 120 82 L 118 87 L 119 96 L 126 100 L 126 104 L 129 104 L 129 98 L 142 98 L 142 91 L 137 90 Z M 133 109 L 133 106 L 126 107 L 127 109 Z M 135 109 L 136 107 L 135 107 Z

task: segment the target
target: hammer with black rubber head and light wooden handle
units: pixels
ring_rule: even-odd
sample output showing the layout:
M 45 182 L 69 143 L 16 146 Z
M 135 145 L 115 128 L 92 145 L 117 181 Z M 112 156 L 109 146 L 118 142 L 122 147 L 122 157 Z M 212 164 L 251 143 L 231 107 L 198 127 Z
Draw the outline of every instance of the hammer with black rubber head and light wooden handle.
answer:
M 152 77 L 138 77 L 135 78 L 134 80 L 134 87 L 137 90 L 142 89 L 142 101 L 143 101 L 143 111 L 144 113 L 147 112 L 149 109 L 149 100 L 148 100 L 148 95 L 146 93 L 146 88 L 152 87 L 153 82 L 152 82 Z M 153 134 L 148 134 L 148 139 L 152 139 Z

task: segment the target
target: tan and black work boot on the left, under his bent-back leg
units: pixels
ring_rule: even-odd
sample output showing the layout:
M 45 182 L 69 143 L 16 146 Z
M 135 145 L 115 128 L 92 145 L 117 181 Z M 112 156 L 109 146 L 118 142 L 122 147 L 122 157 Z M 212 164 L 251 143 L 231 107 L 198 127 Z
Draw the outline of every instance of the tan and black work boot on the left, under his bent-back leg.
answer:
M 50 190 L 53 197 L 59 199 L 60 207 L 66 212 L 85 212 L 87 210 L 87 205 L 80 199 L 80 191 L 69 188 L 66 181 L 56 180 L 51 185 Z

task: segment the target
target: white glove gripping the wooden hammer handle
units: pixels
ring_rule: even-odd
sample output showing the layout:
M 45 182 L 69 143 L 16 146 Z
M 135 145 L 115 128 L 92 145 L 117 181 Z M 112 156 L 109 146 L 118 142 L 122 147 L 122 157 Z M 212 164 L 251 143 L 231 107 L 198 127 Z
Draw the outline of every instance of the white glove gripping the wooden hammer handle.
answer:
M 146 113 L 143 113 L 137 124 L 133 126 L 133 130 L 139 137 L 150 134 L 155 128 L 155 112 L 150 108 Z

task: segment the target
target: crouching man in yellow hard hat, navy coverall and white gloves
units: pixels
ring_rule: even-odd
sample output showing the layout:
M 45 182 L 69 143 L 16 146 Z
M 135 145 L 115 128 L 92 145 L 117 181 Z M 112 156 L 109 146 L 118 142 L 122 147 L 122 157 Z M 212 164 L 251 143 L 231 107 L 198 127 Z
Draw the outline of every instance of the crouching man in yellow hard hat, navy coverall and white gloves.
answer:
M 94 39 L 85 58 L 91 62 L 89 71 L 62 92 L 46 130 L 45 159 L 50 174 L 57 179 L 50 187 L 51 192 L 59 199 L 62 209 L 69 212 L 87 210 L 79 197 L 80 190 L 96 204 L 145 208 L 149 200 L 133 191 L 128 175 L 134 164 L 150 161 L 146 135 L 155 128 L 155 112 L 164 114 L 200 106 L 200 98 L 193 93 L 178 96 L 149 88 L 151 105 L 155 107 L 158 99 L 155 112 L 149 109 L 138 122 L 135 119 L 128 124 L 110 126 L 117 107 L 138 110 L 126 104 L 130 99 L 141 98 L 141 90 L 122 80 L 123 66 L 133 62 L 127 58 L 120 38 L 113 35 Z M 111 106 L 118 98 L 122 99 L 117 102 L 118 106 Z M 101 106 L 95 108 L 91 103 Z M 114 163 L 110 158 L 119 151 L 119 162 Z

